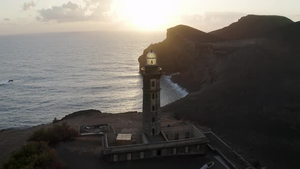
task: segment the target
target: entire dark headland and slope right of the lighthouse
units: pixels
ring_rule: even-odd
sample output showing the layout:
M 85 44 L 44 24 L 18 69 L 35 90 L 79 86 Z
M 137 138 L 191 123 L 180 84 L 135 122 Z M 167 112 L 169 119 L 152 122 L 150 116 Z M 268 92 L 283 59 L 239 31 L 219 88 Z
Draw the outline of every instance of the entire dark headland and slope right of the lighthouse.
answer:
M 141 57 L 154 48 L 163 70 L 180 72 L 172 81 L 190 92 L 164 112 L 212 128 L 267 168 L 292 168 L 300 153 L 298 27 L 281 16 L 248 15 L 218 35 L 234 40 L 205 43 L 181 34 Z

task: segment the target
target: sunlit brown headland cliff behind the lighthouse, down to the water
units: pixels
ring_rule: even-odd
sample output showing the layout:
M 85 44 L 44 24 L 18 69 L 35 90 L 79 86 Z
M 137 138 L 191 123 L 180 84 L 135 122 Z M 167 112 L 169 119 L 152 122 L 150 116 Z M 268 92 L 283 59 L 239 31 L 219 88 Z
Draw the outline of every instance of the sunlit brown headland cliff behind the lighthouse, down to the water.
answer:
M 167 30 L 167 37 L 163 42 L 151 44 L 143 51 L 138 58 L 139 66 L 140 68 L 144 67 L 146 54 L 150 49 L 154 49 L 158 54 L 158 63 L 163 71 L 165 73 L 183 73 L 184 75 L 178 75 L 181 77 L 180 80 L 189 80 L 181 85 L 189 87 L 189 91 L 195 91 L 199 89 L 199 83 L 205 83 L 215 78 L 214 70 L 211 69 L 212 65 L 216 63 L 212 43 L 220 41 L 222 41 L 221 38 L 190 26 L 177 25 Z

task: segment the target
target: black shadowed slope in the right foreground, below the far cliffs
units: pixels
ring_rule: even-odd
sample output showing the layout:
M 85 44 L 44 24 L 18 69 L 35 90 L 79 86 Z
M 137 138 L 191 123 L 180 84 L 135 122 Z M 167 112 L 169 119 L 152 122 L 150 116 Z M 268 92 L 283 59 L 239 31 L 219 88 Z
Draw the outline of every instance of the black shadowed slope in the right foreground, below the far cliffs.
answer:
M 230 146 L 252 151 L 265 166 L 295 166 L 294 156 L 300 153 L 300 54 L 269 47 L 254 44 L 228 54 L 211 68 L 215 81 L 163 111 L 226 135 Z

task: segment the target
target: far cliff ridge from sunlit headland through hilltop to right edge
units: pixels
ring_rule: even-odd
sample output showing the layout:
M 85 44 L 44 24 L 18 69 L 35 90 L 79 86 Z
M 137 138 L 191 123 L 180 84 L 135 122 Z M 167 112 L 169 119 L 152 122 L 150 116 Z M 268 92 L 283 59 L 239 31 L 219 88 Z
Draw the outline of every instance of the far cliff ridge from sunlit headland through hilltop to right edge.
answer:
M 275 46 L 279 48 L 260 51 L 266 55 L 274 50 L 284 50 L 281 45 L 295 46 L 300 42 L 299 25 L 299 22 L 294 23 L 283 16 L 264 15 L 247 15 L 208 34 L 190 26 L 177 25 L 167 30 L 163 42 L 151 44 L 143 51 L 138 58 L 139 66 L 144 67 L 146 53 L 154 49 L 165 73 L 180 73 L 172 77 L 173 82 L 189 92 L 199 91 L 224 74 L 218 70 L 224 64 L 223 60 L 228 58 L 227 55 L 236 54 L 246 46 L 256 45 L 259 48 L 260 45 L 267 46 L 271 41 L 276 41 Z

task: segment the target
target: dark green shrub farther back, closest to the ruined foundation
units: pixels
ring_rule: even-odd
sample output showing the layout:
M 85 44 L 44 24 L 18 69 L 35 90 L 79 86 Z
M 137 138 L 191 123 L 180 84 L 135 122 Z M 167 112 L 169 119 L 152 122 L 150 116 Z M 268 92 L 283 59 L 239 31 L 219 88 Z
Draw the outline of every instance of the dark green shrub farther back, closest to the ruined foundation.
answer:
M 49 145 L 68 140 L 78 135 L 77 131 L 71 128 L 66 122 L 59 125 L 55 124 L 52 128 L 41 128 L 27 139 L 28 142 L 47 142 Z

